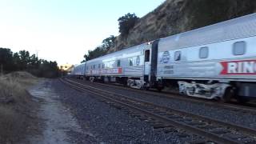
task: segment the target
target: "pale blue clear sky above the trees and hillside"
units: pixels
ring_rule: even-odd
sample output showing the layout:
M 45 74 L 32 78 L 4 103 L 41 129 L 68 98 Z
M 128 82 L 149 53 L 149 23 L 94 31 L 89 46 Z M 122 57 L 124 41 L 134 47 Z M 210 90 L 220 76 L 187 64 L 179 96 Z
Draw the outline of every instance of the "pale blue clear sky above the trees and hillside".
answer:
M 58 64 L 78 64 L 117 36 L 118 18 L 143 17 L 164 0 L 0 0 L 0 47 L 28 50 Z

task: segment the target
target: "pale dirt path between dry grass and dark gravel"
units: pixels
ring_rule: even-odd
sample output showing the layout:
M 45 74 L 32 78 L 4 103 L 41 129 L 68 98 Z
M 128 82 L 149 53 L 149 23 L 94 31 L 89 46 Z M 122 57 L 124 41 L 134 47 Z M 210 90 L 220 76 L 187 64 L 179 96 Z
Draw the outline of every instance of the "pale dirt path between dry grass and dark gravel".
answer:
M 38 144 L 69 144 L 75 143 L 74 136 L 70 133 L 82 134 L 82 129 L 77 120 L 71 115 L 70 110 L 58 101 L 58 93 L 53 90 L 51 81 L 44 81 L 30 90 L 30 94 L 41 100 L 38 118 L 42 119 L 42 134 L 29 138 L 30 143 Z

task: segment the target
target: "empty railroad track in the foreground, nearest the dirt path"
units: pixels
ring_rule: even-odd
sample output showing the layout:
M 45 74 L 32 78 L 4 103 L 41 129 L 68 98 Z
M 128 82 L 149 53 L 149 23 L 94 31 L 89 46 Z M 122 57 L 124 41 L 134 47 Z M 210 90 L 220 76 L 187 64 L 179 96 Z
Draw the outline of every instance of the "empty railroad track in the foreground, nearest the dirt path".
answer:
M 186 111 L 158 106 L 138 98 L 115 94 L 70 79 L 61 79 L 61 81 L 76 90 L 94 94 L 99 100 L 128 111 L 141 120 L 151 123 L 155 129 L 161 129 L 166 133 L 173 131 L 175 127 L 178 130 L 185 130 L 186 134 L 198 135 L 204 142 L 256 143 L 256 130 L 246 126 L 238 126 L 217 119 L 190 114 Z

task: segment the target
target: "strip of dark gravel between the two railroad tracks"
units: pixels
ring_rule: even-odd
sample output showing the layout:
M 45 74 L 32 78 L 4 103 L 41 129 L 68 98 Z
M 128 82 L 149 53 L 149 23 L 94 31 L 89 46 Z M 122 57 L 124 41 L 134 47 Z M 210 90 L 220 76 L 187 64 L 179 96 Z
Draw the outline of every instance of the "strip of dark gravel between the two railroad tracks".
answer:
M 75 79 L 73 79 L 75 80 Z M 155 104 L 161 106 L 168 106 L 170 108 L 175 108 L 178 110 L 185 110 L 192 114 L 199 114 L 202 116 L 215 118 L 218 120 L 222 120 L 224 122 L 231 122 L 242 126 L 249 126 L 251 128 L 256 129 L 256 115 L 250 113 L 242 113 L 241 111 L 235 110 L 227 110 L 222 107 L 216 106 L 208 106 L 202 103 L 193 103 L 193 102 L 185 102 L 182 100 L 174 99 L 174 98 L 163 98 L 158 97 L 157 94 L 143 94 L 138 93 L 133 90 L 122 89 L 122 87 L 117 88 L 112 86 L 102 86 L 97 82 L 88 82 L 85 80 L 78 80 L 78 82 L 83 82 L 90 86 L 98 87 L 102 90 L 108 90 L 118 94 L 125 94 L 126 96 L 130 96 L 132 98 L 141 98 L 142 100 L 148 102 L 154 102 Z

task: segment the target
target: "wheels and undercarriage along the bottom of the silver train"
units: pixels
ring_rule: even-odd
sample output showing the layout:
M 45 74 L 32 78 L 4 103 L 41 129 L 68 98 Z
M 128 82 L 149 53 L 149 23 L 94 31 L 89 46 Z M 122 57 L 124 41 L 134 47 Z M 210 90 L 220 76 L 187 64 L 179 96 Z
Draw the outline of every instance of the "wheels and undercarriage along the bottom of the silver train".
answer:
M 128 77 L 86 77 L 90 82 L 117 82 L 123 86 L 134 89 L 148 90 L 154 88 L 161 91 L 164 86 L 178 90 L 180 94 L 186 94 L 195 98 L 217 99 L 221 102 L 230 102 L 232 98 L 239 102 L 247 102 L 247 98 L 254 98 L 256 95 L 256 84 L 241 82 L 218 82 L 218 81 L 184 81 L 163 79 L 159 82 L 144 81 L 143 78 Z M 153 83 L 153 82 L 151 82 Z

